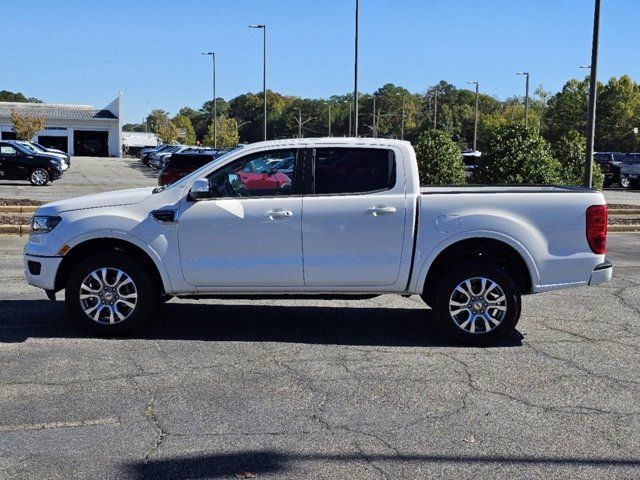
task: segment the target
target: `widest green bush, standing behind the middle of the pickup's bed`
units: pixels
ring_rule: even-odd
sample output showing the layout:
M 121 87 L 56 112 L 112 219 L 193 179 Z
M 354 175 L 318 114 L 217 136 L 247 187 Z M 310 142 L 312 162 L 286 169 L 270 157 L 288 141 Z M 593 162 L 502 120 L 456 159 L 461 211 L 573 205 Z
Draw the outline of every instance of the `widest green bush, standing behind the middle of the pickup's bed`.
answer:
M 474 183 L 560 182 L 560 164 L 535 129 L 508 123 L 491 130 L 473 174 Z

